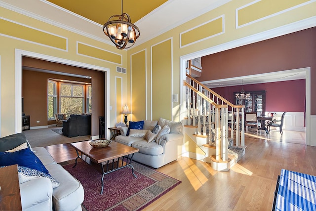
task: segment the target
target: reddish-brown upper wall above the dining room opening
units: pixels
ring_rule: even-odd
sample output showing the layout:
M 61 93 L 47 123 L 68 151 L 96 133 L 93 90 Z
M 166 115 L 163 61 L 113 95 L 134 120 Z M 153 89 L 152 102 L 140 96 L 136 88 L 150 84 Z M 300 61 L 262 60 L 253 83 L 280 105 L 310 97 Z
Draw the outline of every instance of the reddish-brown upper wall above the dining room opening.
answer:
M 198 81 L 311 67 L 311 114 L 316 114 L 316 27 L 202 57 Z M 267 108 L 268 109 L 268 108 Z

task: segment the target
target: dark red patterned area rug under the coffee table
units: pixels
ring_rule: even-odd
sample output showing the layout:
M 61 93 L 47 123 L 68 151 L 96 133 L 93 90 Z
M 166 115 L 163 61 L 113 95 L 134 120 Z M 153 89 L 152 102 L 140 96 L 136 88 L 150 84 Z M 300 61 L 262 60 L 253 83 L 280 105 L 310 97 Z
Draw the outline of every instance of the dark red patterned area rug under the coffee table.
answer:
M 104 176 L 103 194 L 101 191 L 102 173 L 86 162 L 63 166 L 84 189 L 82 205 L 87 211 L 137 211 L 142 210 L 181 181 L 132 162 L 129 167 L 116 170 Z M 101 167 L 99 167 L 101 169 Z

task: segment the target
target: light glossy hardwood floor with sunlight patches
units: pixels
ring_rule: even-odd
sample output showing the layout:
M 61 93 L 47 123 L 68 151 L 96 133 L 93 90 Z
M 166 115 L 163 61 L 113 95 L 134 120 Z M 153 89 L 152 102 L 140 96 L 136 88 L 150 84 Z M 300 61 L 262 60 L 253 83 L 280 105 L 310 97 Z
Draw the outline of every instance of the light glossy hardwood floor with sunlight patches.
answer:
M 145 210 L 271 211 L 281 169 L 316 175 L 316 147 L 304 144 L 304 132 L 283 132 L 246 134 L 246 154 L 226 172 L 186 157 L 157 169 L 182 183 Z M 77 157 L 69 144 L 46 149 L 57 162 Z

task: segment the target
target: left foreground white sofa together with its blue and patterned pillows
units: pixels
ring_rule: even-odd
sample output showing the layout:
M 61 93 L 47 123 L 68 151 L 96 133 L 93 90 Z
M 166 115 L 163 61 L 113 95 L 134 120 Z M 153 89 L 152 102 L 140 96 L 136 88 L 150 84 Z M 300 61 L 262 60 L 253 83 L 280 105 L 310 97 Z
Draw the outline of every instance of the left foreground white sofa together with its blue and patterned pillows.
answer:
M 23 133 L 0 138 L 0 167 L 18 164 L 23 211 L 81 211 L 81 183 Z

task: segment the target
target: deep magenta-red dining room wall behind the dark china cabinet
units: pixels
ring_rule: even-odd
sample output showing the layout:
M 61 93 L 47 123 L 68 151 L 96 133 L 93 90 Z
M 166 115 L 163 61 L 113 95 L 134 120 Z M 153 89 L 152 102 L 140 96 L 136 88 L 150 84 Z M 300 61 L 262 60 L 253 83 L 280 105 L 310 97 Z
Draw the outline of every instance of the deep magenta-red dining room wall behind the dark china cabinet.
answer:
M 212 88 L 230 102 L 235 102 L 234 92 L 241 86 Z M 305 108 L 305 79 L 273 82 L 263 84 L 243 85 L 245 92 L 266 90 L 266 111 L 275 112 L 304 112 Z

